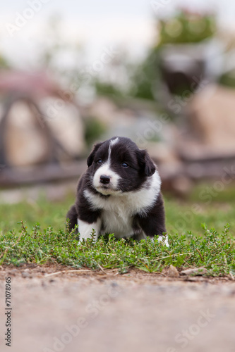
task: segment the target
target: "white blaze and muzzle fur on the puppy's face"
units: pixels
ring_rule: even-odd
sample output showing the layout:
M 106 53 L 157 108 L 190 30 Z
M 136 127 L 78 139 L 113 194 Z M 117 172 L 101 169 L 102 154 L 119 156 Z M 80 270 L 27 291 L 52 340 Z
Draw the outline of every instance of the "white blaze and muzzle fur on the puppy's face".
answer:
M 119 141 L 119 138 L 112 139 L 109 144 L 109 157 L 107 160 L 107 163 L 104 163 L 98 170 L 95 172 L 95 175 L 93 177 L 93 184 L 94 187 L 100 187 L 102 186 L 102 183 L 100 182 L 100 176 L 101 175 L 106 175 L 110 177 L 110 188 L 116 189 L 119 183 L 119 179 L 121 178 L 116 172 L 111 170 L 110 164 L 111 164 L 111 149 L 114 144 L 116 144 Z

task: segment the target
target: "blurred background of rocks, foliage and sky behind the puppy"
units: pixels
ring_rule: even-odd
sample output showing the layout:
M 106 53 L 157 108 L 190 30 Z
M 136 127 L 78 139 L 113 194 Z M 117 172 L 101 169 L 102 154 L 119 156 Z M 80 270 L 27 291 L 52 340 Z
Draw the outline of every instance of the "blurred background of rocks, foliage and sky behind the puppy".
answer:
M 0 203 L 74 197 L 92 144 L 114 135 L 150 152 L 165 194 L 234 199 L 234 12 L 232 0 L 1 4 Z

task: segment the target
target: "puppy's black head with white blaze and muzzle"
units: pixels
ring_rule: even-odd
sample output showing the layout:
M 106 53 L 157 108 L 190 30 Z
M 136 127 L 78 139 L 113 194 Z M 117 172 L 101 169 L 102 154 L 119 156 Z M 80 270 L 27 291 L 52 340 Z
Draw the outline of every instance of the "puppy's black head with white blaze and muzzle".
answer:
M 155 171 L 147 151 L 125 137 L 96 144 L 88 157 L 92 187 L 104 195 L 138 190 Z

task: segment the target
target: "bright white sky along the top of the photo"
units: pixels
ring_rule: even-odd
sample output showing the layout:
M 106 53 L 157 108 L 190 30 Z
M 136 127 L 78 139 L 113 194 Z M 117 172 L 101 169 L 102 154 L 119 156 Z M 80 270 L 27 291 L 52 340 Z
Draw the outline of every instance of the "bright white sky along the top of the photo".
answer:
M 162 13 L 177 5 L 192 9 L 212 8 L 222 25 L 234 25 L 234 0 L 153 0 Z M 30 4 L 37 11 L 30 9 Z M 30 10 L 29 10 L 30 9 Z M 28 16 L 18 27 L 19 14 Z M 144 52 L 155 37 L 151 0 L 11 0 L 2 1 L 0 11 L 0 51 L 19 66 L 30 63 L 47 36 L 44 25 L 52 15 L 63 19 L 61 35 L 71 42 L 88 45 L 90 59 L 105 46 L 122 44 L 137 55 Z M 21 18 L 22 23 L 22 18 Z M 12 36 L 9 34 L 9 24 Z M 8 29 L 7 29 L 8 26 Z M 16 30 L 18 28 L 18 30 Z

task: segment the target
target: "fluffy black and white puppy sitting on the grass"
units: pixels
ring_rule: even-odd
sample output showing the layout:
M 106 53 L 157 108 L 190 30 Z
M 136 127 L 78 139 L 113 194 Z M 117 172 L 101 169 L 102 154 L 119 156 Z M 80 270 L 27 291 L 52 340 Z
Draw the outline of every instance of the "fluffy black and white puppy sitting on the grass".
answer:
M 145 239 L 167 232 L 161 180 L 147 151 L 125 137 L 94 146 L 88 170 L 78 183 L 76 203 L 68 211 L 70 230 L 80 239 L 99 234 Z M 165 244 L 168 245 L 167 237 Z

